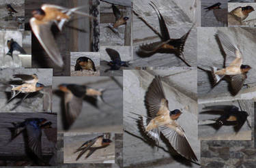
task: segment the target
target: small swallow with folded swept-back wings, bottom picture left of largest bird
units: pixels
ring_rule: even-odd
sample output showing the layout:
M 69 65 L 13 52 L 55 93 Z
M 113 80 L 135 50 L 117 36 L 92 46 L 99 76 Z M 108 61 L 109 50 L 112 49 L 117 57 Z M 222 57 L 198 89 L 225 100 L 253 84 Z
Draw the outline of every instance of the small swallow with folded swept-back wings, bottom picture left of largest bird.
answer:
M 81 156 L 87 150 L 89 150 L 89 153 L 87 154 L 87 156 L 85 156 L 85 158 L 88 158 L 89 156 L 91 156 L 91 154 L 93 154 L 95 150 L 109 146 L 109 144 L 111 144 L 111 142 L 112 142 L 111 139 L 104 139 L 104 135 L 100 135 L 100 136 L 95 137 L 94 139 L 91 139 L 89 141 L 85 141 L 85 143 L 74 152 L 74 153 L 76 153 L 76 152 L 81 151 L 79 156 L 77 156 L 76 161 L 79 160 L 79 158 L 81 158 Z

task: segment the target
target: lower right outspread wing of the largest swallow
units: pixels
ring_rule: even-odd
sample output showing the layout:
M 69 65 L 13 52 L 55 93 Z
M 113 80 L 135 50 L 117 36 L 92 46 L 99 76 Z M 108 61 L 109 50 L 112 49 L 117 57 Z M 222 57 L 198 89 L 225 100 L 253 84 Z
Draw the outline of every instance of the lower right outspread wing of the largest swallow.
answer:
M 169 140 L 169 143 L 177 153 L 190 161 L 198 161 L 197 156 L 188 143 L 185 132 L 180 125 L 173 121 L 171 124 L 161 126 L 160 129 L 161 133 Z

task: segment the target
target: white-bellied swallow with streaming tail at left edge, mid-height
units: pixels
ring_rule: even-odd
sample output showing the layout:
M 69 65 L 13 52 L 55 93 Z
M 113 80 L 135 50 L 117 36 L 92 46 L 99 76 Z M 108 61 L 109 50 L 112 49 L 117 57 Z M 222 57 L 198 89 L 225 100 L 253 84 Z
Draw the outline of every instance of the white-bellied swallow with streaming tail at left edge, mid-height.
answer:
M 12 89 L 11 89 L 11 98 L 8 100 L 8 103 L 20 93 L 25 93 L 25 97 L 23 97 L 21 101 L 16 103 L 16 106 L 12 108 L 12 110 L 18 107 L 18 105 L 20 105 L 20 103 L 22 103 L 23 100 L 26 99 L 29 93 L 35 93 L 35 92 L 38 92 L 39 90 L 42 90 L 42 88 L 44 88 L 43 84 L 38 83 L 38 75 L 36 74 L 33 74 L 33 75 L 16 74 L 16 75 L 13 75 L 13 77 L 20 78 L 21 80 L 23 80 L 23 84 L 21 85 L 10 84 Z

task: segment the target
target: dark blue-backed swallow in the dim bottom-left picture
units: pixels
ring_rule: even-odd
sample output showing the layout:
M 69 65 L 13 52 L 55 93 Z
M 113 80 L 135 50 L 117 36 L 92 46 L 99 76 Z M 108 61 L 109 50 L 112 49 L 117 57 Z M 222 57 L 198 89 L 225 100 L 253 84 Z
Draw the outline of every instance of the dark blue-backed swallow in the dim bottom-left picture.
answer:
M 12 138 L 15 139 L 20 133 L 26 131 L 29 152 L 33 152 L 40 160 L 42 160 L 42 129 L 51 126 L 52 122 L 47 122 L 45 118 L 26 118 L 23 122 L 13 122 L 14 128 L 11 128 Z

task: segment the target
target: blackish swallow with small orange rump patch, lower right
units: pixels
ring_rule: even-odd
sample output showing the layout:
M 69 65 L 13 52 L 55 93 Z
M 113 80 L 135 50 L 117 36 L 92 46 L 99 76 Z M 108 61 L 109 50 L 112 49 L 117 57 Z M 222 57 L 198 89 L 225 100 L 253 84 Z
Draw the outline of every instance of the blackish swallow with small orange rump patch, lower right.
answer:
M 216 130 L 220 129 L 223 125 L 227 125 L 233 126 L 236 133 L 238 133 L 248 117 L 248 113 L 240 111 L 236 105 L 213 105 L 204 107 L 203 110 L 207 111 L 201 112 L 201 114 L 221 115 L 219 118 L 210 119 L 214 123 L 208 124 L 212 125 Z

